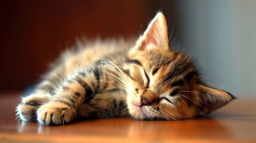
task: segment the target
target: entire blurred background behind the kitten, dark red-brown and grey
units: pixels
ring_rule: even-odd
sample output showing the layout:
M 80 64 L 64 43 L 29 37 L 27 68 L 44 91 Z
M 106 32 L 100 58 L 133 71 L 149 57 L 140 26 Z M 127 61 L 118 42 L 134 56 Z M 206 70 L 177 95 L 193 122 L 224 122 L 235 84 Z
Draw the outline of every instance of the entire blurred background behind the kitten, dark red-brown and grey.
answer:
M 0 92 L 22 92 L 76 39 L 136 38 L 156 11 L 203 81 L 256 98 L 256 1 L 1 1 Z M 3 94 L 1 94 L 3 95 Z

